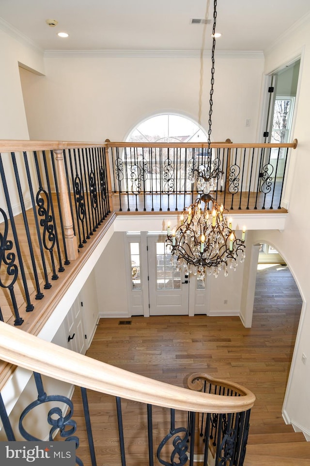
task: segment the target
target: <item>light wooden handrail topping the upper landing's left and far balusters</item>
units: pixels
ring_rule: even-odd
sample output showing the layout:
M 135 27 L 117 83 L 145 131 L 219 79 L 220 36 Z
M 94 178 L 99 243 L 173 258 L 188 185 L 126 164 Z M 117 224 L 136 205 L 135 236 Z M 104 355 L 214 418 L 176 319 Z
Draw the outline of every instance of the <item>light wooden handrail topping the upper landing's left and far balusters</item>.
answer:
M 87 147 L 132 147 L 132 148 L 195 148 L 203 149 L 208 147 L 208 143 L 198 142 L 176 142 L 176 143 L 133 143 L 133 142 L 75 142 L 75 141 L 29 141 L 29 140 L 0 140 L 0 152 L 14 152 L 20 150 L 52 150 L 52 149 L 78 149 Z M 273 144 L 273 143 L 231 143 L 231 142 L 212 142 L 211 148 L 292 148 L 296 149 L 297 139 L 292 143 L 287 144 Z

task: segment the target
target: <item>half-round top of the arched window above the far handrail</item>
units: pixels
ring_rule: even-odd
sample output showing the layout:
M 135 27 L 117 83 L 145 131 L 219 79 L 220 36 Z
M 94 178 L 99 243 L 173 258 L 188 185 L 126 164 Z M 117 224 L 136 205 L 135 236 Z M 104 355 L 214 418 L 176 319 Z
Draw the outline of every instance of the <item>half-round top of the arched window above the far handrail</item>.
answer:
M 208 136 L 194 121 L 180 115 L 157 115 L 139 123 L 126 142 L 207 142 Z

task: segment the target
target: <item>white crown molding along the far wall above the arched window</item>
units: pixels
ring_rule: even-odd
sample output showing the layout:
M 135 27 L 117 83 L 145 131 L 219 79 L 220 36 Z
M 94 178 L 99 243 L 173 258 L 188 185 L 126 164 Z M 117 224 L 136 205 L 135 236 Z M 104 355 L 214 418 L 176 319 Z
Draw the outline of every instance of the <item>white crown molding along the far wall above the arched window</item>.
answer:
M 217 58 L 264 57 L 262 50 L 219 50 Z M 45 50 L 44 58 L 200 58 L 200 50 Z M 211 50 L 203 51 L 210 58 Z

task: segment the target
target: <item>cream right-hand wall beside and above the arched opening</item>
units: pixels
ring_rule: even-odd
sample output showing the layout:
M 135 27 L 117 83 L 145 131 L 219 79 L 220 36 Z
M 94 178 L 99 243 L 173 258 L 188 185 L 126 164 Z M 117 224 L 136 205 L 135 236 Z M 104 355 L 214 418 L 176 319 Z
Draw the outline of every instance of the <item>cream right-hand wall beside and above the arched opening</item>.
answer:
M 310 199 L 310 17 L 286 37 L 282 37 L 275 47 L 266 52 L 265 73 L 283 66 L 299 53 L 301 60 L 301 82 L 296 111 L 294 137 L 298 147 L 294 151 L 290 177 L 290 215 L 285 230 L 280 232 L 256 232 L 253 240 L 265 240 L 273 244 L 290 267 L 304 300 L 299 333 L 293 357 L 289 384 L 284 404 L 284 415 L 296 426 L 310 434 L 310 287 L 309 287 L 309 230 L 310 217 L 305 208 Z M 292 169 L 294 171 L 292 173 Z M 302 224 L 302 227 L 301 227 Z M 301 361 L 302 353 L 308 356 L 306 365 Z M 307 407 L 307 408 L 306 408 Z

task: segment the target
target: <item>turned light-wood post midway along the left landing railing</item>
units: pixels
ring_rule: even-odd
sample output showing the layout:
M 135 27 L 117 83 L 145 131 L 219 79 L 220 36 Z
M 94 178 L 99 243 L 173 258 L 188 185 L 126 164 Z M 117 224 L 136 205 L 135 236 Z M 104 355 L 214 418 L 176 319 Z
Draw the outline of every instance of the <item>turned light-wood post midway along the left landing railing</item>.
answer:
M 73 219 L 71 216 L 69 194 L 67 189 L 66 173 L 63 162 L 63 150 L 54 149 L 56 156 L 56 166 L 58 174 L 59 195 L 62 205 L 62 223 L 68 259 L 70 261 L 78 259 L 78 242 L 73 231 Z

